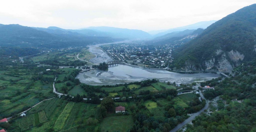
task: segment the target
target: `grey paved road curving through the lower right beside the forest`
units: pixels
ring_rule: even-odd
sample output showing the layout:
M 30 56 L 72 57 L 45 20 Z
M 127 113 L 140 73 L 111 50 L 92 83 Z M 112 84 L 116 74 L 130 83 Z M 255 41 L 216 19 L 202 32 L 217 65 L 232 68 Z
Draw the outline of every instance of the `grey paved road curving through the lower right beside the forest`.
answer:
M 205 99 L 204 95 L 201 93 L 201 91 L 199 91 L 200 96 Z M 206 100 L 206 99 L 205 99 Z M 200 111 L 194 113 L 194 115 L 190 116 L 188 119 L 186 119 L 184 122 L 178 124 L 175 128 L 173 128 L 172 130 L 170 130 L 170 132 L 175 132 L 178 131 L 180 128 L 182 128 L 183 126 L 185 126 L 186 124 L 188 124 L 189 122 L 191 122 L 192 120 L 194 120 L 196 118 L 196 116 L 200 115 L 204 110 L 206 110 L 209 106 L 208 101 L 206 100 L 206 105 L 203 109 L 201 109 Z

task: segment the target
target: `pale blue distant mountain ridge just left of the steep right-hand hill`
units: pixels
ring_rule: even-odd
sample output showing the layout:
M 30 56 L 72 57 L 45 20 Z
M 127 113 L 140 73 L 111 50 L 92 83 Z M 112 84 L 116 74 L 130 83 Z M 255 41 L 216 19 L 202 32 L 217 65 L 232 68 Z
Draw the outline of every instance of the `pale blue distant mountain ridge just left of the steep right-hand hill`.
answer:
M 194 24 L 190 24 L 187 26 L 182 26 L 182 27 L 176 27 L 176 28 L 170 28 L 167 30 L 157 30 L 157 31 L 150 31 L 148 32 L 149 34 L 153 35 L 153 37 L 159 37 L 159 36 L 163 36 L 165 34 L 168 33 L 172 33 L 172 32 L 180 32 L 180 31 L 184 31 L 184 30 L 196 30 L 198 28 L 207 28 L 209 25 L 211 25 L 212 23 L 215 23 L 216 20 L 211 20 L 211 21 L 202 21 L 202 22 L 197 22 Z

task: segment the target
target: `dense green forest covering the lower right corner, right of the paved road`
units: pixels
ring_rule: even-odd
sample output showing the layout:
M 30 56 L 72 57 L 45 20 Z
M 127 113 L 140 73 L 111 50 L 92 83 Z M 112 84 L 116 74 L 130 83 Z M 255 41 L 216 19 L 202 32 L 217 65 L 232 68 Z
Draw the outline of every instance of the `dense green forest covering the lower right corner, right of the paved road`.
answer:
M 255 131 L 255 67 L 256 60 L 244 63 L 232 71 L 234 76 L 208 82 L 215 85 L 215 90 L 205 91 L 205 97 L 220 96 L 223 100 L 218 102 L 218 111 L 197 117 L 193 126 L 187 125 L 187 131 Z

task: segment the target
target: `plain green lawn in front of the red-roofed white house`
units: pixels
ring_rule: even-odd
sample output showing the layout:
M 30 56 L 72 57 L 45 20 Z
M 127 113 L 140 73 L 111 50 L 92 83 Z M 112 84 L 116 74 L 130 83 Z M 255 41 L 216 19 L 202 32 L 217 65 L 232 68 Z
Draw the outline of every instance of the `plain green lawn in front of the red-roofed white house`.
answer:
M 108 116 L 101 123 L 101 131 L 127 131 L 132 125 L 132 115 Z

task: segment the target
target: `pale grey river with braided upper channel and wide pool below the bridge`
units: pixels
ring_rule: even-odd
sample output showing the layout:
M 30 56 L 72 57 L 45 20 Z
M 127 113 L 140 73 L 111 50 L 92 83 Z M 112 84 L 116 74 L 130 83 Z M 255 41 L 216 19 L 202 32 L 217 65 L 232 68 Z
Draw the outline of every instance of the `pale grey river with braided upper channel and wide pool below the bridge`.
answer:
M 129 41 L 120 41 L 115 43 L 124 43 Z M 99 46 L 109 45 L 111 43 L 103 43 L 89 46 L 90 52 L 96 55 L 91 59 L 92 63 L 102 63 L 112 61 L 111 57 L 102 51 Z M 133 67 L 122 64 L 109 66 L 108 71 L 92 70 L 80 73 L 76 78 L 82 83 L 90 85 L 114 85 L 119 83 L 129 83 L 142 81 L 146 79 L 159 79 L 159 81 L 170 81 L 176 83 L 191 83 L 194 81 L 206 81 L 220 77 L 218 74 L 212 73 L 196 73 L 196 74 L 180 74 L 169 72 L 166 70 L 146 69 L 141 67 Z

